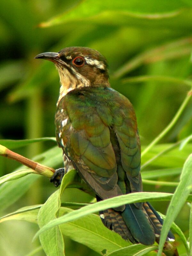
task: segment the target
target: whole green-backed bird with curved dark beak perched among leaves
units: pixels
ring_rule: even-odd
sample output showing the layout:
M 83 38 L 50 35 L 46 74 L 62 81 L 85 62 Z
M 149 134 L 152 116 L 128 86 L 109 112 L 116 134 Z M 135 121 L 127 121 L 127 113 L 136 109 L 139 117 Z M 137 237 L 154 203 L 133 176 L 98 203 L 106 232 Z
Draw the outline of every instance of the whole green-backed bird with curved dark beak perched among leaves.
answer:
M 52 61 L 60 76 L 55 127 L 64 168 L 52 176 L 54 185 L 76 169 L 97 201 L 142 192 L 136 114 L 132 103 L 111 88 L 106 58 L 80 46 L 44 52 L 35 58 Z M 163 220 L 148 202 L 99 213 L 103 224 L 124 240 L 145 245 L 159 242 Z M 171 231 L 166 243 L 169 241 L 174 241 Z M 177 250 L 172 255 L 178 255 Z

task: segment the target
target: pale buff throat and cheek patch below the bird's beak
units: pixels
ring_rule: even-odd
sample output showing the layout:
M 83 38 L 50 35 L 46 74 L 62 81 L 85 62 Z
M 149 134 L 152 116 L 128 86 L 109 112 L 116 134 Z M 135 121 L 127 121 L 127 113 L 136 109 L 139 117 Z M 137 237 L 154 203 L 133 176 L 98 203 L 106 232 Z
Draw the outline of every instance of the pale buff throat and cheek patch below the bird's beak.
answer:
M 80 75 L 79 73 L 74 72 L 75 75 L 72 75 L 67 68 L 61 67 L 59 65 L 55 65 L 55 66 L 59 72 L 59 77 L 60 77 L 60 92 L 59 92 L 59 99 L 57 101 L 57 106 L 60 100 L 71 90 L 90 86 L 90 81 L 85 79 L 85 77 Z

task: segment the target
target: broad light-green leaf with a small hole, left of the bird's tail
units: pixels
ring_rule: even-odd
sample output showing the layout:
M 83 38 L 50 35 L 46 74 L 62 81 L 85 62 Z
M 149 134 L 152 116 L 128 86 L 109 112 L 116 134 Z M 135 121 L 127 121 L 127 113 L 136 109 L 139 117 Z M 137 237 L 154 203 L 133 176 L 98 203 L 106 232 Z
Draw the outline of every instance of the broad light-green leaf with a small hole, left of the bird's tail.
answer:
M 59 216 L 70 212 L 74 211 L 61 207 Z M 121 236 L 106 228 L 102 224 L 100 217 L 96 214 L 90 214 L 79 220 L 64 223 L 60 225 L 60 229 L 63 235 L 88 246 L 101 255 L 108 254 L 130 244 L 123 240 Z

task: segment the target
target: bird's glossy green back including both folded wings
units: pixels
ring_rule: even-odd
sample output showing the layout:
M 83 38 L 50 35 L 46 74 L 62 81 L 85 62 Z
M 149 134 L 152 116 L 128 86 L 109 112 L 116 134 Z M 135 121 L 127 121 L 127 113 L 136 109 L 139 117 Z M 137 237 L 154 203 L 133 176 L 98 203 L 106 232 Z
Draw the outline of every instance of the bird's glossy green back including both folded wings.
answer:
M 68 93 L 58 106 L 56 134 L 66 156 L 102 199 L 142 190 L 136 117 L 120 93 L 103 88 Z

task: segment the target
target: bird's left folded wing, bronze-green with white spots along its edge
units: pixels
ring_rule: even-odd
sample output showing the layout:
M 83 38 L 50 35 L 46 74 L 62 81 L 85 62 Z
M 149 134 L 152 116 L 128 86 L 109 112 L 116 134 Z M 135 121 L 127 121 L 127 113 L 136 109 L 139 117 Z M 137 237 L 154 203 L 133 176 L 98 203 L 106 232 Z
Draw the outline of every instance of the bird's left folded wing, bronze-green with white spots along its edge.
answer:
M 57 141 L 80 176 L 98 196 L 107 199 L 122 195 L 117 185 L 116 156 L 109 127 L 88 100 L 88 96 L 82 101 L 79 95 L 71 94 L 60 102 L 55 119 Z M 124 210 L 124 206 L 116 210 Z

